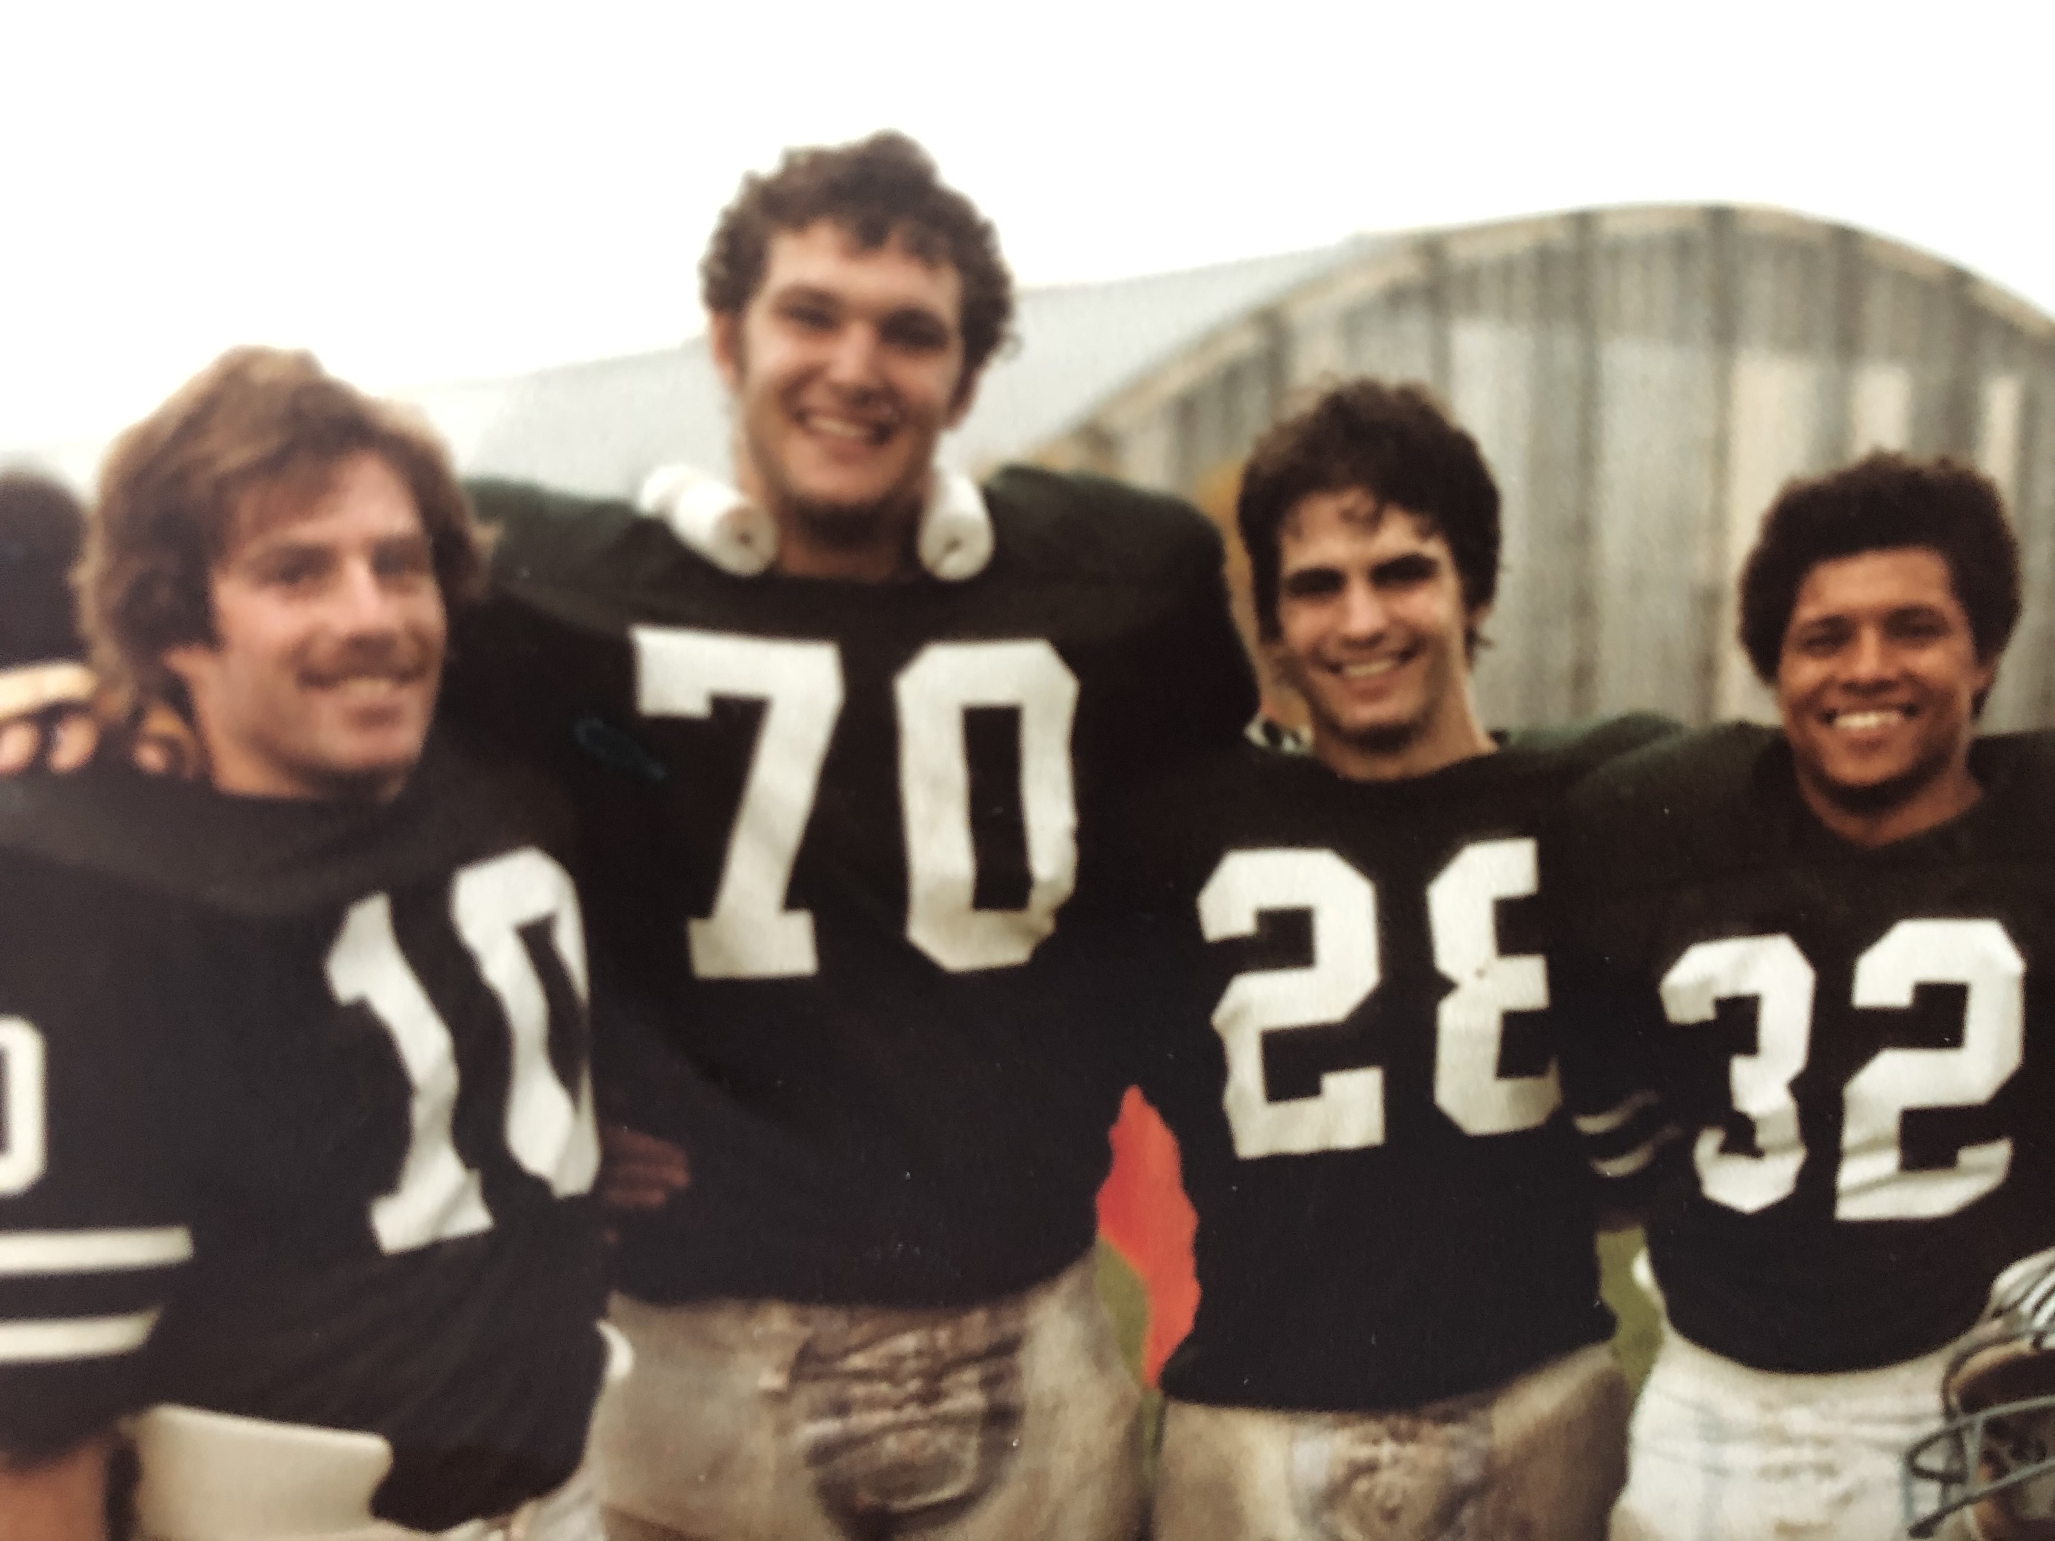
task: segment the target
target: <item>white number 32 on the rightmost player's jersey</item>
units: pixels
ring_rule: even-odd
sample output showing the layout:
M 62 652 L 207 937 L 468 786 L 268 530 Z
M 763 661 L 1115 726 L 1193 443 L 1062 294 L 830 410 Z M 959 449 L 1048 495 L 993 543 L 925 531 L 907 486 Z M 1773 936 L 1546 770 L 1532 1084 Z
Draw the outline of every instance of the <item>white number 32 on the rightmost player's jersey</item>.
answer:
M 1699 941 L 1662 976 L 1662 1011 L 1679 1025 L 1712 1021 L 1720 1001 L 1755 1001 L 1755 1052 L 1728 1070 L 1734 1112 L 1755 1128 L 1755 1155 L 1699 1130 L 1695 1161 L 1706 1198 L 1755 1214 L 1798 1188 L 1804 1140 L 1792 1081 L 1813 1038 L 1813 966 L 1786 935 Z M 1852 1005 L 1903 1009 L 1921 984 L 1960 984 L 1956 1048 L 1886 1048 L 1841 1091 L 1841 1165 L 1835 1218 L 1926 1220 L 1954 1214 L 2006 1179 L 2012 1140 L 1956 1151 L 1954 1165 L 1907 1171 L 1899 1147 L 1909 1107 L 1975 1107 L 2020 1068 L 2026 962 L 1997 920 L 1899 920 L 1856 960 Z

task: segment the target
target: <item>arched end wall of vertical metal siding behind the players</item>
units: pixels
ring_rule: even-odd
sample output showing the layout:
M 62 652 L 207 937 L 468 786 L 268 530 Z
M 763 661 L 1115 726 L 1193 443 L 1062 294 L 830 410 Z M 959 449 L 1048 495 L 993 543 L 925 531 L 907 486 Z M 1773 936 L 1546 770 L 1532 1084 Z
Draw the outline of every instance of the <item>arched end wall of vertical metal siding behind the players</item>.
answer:
M 1424 238 L 1128 417 L 1122 471 L 1196 491 L 1286 388 L 1426 380 L 1504 499 L 1478 699 L 1494 723 L 1769 711 L 1734 575 L 1778 489 L 1870 448 L 1975 454 L 2008 491 L 2026 614 L 1991 725 L 2055 723 L 2055 343 L 1854 230 L 1734 210 L 1533 220 Z M 1480 240 L 1465 242 L 1478 234 Z M 1147 446 L 1147 448 L 1145 448 Z

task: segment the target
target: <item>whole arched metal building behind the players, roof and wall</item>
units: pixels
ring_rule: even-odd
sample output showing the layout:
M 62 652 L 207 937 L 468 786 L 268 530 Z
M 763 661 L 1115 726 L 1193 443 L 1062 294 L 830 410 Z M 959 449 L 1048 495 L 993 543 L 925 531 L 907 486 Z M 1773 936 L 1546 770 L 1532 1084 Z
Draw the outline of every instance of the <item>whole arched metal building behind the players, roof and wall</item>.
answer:
M 1876 446 L 1975 460 L 2028 579 L 1989 723 L 2055 725 L 2055 321 L 1911 247 L 1763 208 L 1586 210 L 1030 288 L 1017 339 L 956 464 L 1104 471 L 1223 524 L 1295 392 L 1428 382 L 1504 491 L 1478 672 L 1504 725 L 1765 715 L 1732 575 L 1778 487 Z M 703 339 L 413 397 L 473 475 L 633 495 L 664 462 L 727 464 Z M 95 450 L 53 458 L 84 481 Z

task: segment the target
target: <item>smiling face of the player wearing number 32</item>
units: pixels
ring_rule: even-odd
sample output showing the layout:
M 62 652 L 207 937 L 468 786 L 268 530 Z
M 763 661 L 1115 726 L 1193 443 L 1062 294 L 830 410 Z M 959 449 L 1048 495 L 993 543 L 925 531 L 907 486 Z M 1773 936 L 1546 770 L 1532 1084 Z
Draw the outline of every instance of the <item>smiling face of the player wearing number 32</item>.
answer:
M 1946 559 L 1930 547 L 1815 565 L 1778 657 L 1778 711 L 1798 787 L 1845 838 L 1882 844 L 1977 801 L 1975 699 L 1997 660 L 1977 657 Z

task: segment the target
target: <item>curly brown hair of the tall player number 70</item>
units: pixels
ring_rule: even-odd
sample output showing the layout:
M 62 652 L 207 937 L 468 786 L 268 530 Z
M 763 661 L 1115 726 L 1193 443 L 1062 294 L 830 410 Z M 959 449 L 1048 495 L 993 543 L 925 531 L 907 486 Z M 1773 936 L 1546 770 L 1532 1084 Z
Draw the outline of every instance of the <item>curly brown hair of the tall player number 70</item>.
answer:
M 771 236 L 820 220 L 834 220 L 861 251 L 896 238 L 925 263 L 956 267 L 964 281 L 960 388 L 968 390 L 1007 337 L 1013 273 L 993 222 L 941 181 L 927 150 L 892 129 L 853 144 L 787 150 L 769 177 L 744 177 L 699 261 L 707 310 L 740 316 L 764 281 Z

